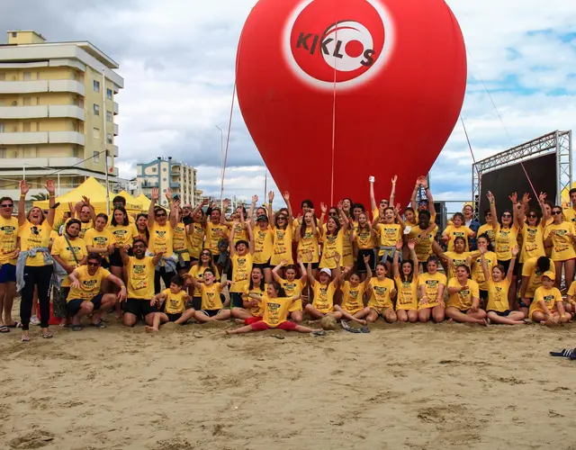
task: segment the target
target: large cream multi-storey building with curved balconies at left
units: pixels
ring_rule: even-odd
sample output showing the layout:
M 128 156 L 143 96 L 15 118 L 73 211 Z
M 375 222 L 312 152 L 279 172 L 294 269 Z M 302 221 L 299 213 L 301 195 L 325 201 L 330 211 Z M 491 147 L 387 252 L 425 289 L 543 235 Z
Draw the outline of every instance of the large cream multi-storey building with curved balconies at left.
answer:
M 48 42 L 35 31 L 8 31 L 0 45 L 0 183 L 17 198 L 17 182 L 44 192 L 48 178 L 66 193 L 88 176 L 110 183 L 118 64 L 90 42 Z M 14 191 L 13 191 L 14 190 Z

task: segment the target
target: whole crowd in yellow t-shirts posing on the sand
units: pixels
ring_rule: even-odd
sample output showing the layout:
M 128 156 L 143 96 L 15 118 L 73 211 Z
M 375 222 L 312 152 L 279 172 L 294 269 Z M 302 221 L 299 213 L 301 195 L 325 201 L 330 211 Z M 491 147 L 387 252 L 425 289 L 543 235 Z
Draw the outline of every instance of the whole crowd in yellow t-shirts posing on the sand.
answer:
M 403 210 L 394 203 L 396 182 L 389 200 L 376 202 L 370 177 L 368 211 L 345 198 L 320 203 L 320 214 L 310 200 L 295 214 L 289 193 L 276 211 L 269 193 L 266 205 L 255 195 L 248 210 L 240 205 L 229 217 L 228 201 L 222 209 L 208 201 L 192 207 L 169 191 L 165 209 L 157 189 L 148 214 L 137 217 L 121 196 L 110 217 L 83 198 L 69 205 L 58 231 L 54 183 L 46 184 L 47 211 L 25 211 L 23 181 L 16 214 L 13 199 L 0 198 L 0 333 L 21 328 L 27 342 L 33 324 L 52 338 L 51 320 L 74 331 L 83 321 L 103 328 L 107 311 L 127 327 L 144 320 L 150 332 L 166 322 L 243 322 L 230 334 L 321 333 L 302 325 L 306 316 L 340 320 L 355 332 L 369 332 L 380 318 L 482 326 L 572 320 L 576 189 L 566 210 L 545 193 L 537 208 L 529 194 L 512 193 L 498 211 L 488 193 L 484 225 L 465 204 L 439 232 L 426 177 Z

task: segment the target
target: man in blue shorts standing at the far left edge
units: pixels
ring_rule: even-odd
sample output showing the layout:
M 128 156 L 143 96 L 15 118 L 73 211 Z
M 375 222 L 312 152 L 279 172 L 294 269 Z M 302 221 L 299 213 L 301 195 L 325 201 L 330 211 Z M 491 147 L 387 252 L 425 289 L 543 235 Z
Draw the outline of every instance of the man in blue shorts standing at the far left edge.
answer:
M 16 245 L 18 219 L 12 216 L 14 201 L 0 198 L 0 333 L 8 333 L 20 325 L 12 319 L 16 295 Z

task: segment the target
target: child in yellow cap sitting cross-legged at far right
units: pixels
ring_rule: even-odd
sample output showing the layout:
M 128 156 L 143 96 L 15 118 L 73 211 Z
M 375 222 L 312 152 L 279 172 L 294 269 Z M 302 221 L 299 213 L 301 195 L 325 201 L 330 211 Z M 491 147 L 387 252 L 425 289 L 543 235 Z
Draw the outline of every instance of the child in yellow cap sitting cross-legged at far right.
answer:
M 555 276 L 552 272 L 542 275 L 542 286 L 536 289 L 534 302 L 530 305 L 528 317 L 541 325 L 555 325 L 572 320 L 572 314 L 564 310 L 560 290 L 554 286 Z

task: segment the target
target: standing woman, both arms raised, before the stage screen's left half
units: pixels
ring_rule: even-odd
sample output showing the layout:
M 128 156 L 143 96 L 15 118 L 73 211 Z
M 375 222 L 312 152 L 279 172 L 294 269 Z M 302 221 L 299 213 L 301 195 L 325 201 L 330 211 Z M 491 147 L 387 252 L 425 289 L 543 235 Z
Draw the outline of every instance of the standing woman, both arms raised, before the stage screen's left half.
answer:
M 494 194 L 489 191 L 486 193 L 486 197 L 490 202 L 491 223 L 494 228 L 494 252 L 496 253 L 496 257 L 498 257 L 498 264 L 504 268 L 502 273 L 508 274 L 510 262 L 512 261 L 512 248 L 518 245 L 518 233 L 520 232 L 518 215 L 520 214 L 522 205 L 518 202 L 518 193 L 512 193 L 509 196 L 510 202 L 512 202 L 512 209 L 502 211 L 499 222 Z M 524 212 L 522 211 L 522 213 Z M 509 310 L 515 311 L 517 293 L 516 274 L 512 275 L 510 286 L 512 287 L 509 289 L 508 296 Z

